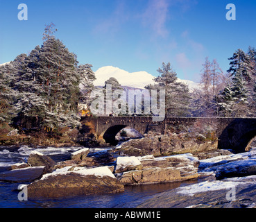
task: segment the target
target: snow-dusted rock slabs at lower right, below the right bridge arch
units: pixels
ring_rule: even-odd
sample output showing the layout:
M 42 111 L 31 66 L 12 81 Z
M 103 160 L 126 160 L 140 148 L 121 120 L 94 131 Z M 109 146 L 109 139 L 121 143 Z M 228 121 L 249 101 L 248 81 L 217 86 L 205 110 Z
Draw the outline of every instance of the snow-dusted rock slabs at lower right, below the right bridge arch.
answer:
M 138 207 L 255 208 L 256 149 L 200 160 L 198 173 L 205 178 L 194 185 L 155 195 Z

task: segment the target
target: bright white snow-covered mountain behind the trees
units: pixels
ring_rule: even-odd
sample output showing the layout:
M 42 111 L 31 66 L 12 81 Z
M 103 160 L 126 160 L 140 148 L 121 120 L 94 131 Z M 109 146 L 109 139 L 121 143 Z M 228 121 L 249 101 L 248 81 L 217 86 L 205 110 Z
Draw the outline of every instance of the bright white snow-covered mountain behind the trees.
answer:
M 94 85 L 103 86 L 105 80 L 108 80 L 110 77 L 114 77 L 122 86 L 135 87 L 143 89 L 148 84 L 154 84 L 153 79 L 155 76 L 148 74 L 146 71 L 137 71 L 129 73 L 118 67 L 106 66 L 101 67 L 95 71 L 96 80 Z M 181 80 L 178 78 L 179 82 L 189 85 L 189 89 L 194 89 L 199 87 L 199 83 L 195 83 L 191 80 Z

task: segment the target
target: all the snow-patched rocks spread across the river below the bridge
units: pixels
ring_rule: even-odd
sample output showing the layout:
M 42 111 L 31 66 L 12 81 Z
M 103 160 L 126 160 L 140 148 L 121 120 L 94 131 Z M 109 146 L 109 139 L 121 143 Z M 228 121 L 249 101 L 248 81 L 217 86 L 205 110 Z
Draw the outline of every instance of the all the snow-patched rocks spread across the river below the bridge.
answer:
M 92 149 L 77 147 L 76 151 L 70 152 L 67 160 L 62 161 L 52 160 L 49 155 L 44 155 L 44 152 L 38 152 L 40 149 L 31 150 L 26 161 L 1 169 L 0 181 L 25 182 L 28 200 L 44 200 L 68 196 L 119 194 L 130 185 L 194 180 L 192 185 L 161 192 L 144 203 L 140 201 L 136 206 L 255 206 L 255 148 L 246 153 L 234 154 L 228 150 L 218 150 L 216 146 L 208 146 L 209 142 L 196 140 L 187 146 L 179 146 L 182 149 L 181 154 L 173 155 L 171 153 L 174 146 L 167 148 L 169 140 L 161 136 L 160 140 L 152 140 L 155 143 L 160 142 L 157 146 L 152 146 L 152 149 L 155 148 L 157 153 L 165 147 L 164 152 L 170 152 L 169 155 L 144 155 L 144 151 L 138 152 L 140 155 L 127 155 L 124 151 L 126 148 L 131 151 L 129 144 L 133 144 L 135 153 L 136 149 L 142 150 L 142 147 L 135 147 L 136 141 L 142 143 L 142 140 L 135 139 L 115 148 L 98 149 L 93 154 L 90 152 Z M 198 144 L 203 147 L 200 152 L 191 149 L 198 147 Z M 189 148 L 191 153 L 184 153 L 184 148 Z M 148 148 L 146 150 L 148 152 Z

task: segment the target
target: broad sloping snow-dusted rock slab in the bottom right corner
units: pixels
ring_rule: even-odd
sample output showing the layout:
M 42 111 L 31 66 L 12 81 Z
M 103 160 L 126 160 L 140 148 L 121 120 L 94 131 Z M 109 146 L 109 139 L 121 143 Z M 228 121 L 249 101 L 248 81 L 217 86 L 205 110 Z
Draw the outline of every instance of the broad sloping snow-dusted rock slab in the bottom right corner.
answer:
M 156 194 L 138 208 L 255 207 L 256 176 L 200 182 Z

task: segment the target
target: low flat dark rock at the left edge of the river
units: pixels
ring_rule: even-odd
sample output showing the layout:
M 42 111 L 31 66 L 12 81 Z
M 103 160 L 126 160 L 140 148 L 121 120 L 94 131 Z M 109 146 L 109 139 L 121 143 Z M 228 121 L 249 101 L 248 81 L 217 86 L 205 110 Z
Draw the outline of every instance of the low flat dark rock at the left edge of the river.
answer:
M 0 173 L 0 180 L 5 182 L 32 182 L 41 178 L 44 167 L 28 167 L 24 169 L 14 169 Z

